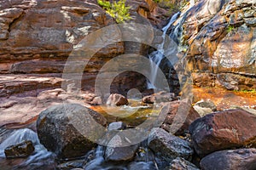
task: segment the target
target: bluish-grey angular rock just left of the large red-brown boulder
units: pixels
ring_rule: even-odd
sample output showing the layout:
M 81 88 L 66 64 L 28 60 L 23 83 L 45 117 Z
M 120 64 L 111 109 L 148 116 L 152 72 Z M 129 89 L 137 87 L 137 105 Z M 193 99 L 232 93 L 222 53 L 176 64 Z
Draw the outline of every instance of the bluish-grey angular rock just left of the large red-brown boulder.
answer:
M 188 141 L 167 133 L 161 128 L 152 129 L 148 136 L 148 147 L 156 155 L 163 156 L 167 161 L 172 161 L 176 157 L 189 160 L 194 153 Z

